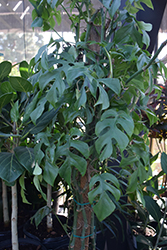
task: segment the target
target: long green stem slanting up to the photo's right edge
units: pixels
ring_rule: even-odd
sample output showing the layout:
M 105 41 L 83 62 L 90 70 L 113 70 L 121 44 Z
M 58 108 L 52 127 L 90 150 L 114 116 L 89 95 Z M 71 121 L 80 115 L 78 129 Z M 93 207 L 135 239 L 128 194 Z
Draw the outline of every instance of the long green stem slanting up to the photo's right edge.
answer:
M 156 51 L 156 53 L 154 54 L 154 56 L 150 59 L 149 63 L 145 67 L 143 67 L 142 69 L 138 70 L 131 77 L 129 77 L 129 79 L 126 81 L 126 84 L 129 83 L 133 78 L 135 78 L 136 76 L 138 76 L 139 74 L 141 74 L 142 72 L 144 72 L 146 69 L 148 69 L 152 65 L 152 63 L 155 61 L 155 59 L 158 57 L 158 55 L 161 52 L 161 50 L 166 46 L 166 44 L 167 44 L 167 40 L 164 41 L 161 44 L 161 46 L 159 47 L 159 49 Z

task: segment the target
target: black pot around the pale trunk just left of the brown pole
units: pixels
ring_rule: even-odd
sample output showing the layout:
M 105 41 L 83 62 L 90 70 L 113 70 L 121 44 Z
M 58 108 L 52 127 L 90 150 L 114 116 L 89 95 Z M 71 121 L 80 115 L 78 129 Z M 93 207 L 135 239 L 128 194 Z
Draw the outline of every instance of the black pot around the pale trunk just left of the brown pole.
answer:
M 66 217 L 65 216 L 62 216 L 62 215 L 58 215 L 60 221 L 62 222 L 62 224 L 65 224 L 66 222 Z M 44 221 L 46 220 L 46 218 L 44 218 Z M 59 221 L 57 220 L 56 216 L 53 216 L 53 220 L 54 222 L 56 221 L 56 223 L 59 224 Z M 60 237 L 53 237 L 53 238 L 46 238 L 46 239 L 40 239 L 38 238 L 36 235 L 33 235 L 31 232 L 30 232 L 30 225 L 31 224 L 31 221 L 27 221 L 23 227 L 23 232 L 25 234 L 25 236 L 27 238 L 30 238 L 30 239 L 34 239 L 38 242 L 40 242 L 42 245 L 44 245 L 47 249 L 57 249 L 58 247 L 61 247 L 61 246 L 64 246 L 64 245 L 69 245 L 69 237 L 64 234 L 63 236 L 60 236 Z M 60 224 L 59 224 L 60 225 Z M 34 225 L 35 227 L 35 225 Z M 56 231 L 56 228 L 54 228 L 55 231 Z M 36 229 L 38 230 L 38 229 Z M 45 230 L 45 229 L 43 229 Z

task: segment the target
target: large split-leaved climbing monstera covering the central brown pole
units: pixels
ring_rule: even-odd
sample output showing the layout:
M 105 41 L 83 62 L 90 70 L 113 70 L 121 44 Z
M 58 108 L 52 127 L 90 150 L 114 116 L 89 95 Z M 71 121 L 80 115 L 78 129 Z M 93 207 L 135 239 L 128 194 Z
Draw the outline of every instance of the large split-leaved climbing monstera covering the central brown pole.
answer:
M 135 13 L 142 8 L 141 2 L 152 8 L 150 0 L 129 0 L 122 10 L 118 0 L 101 0 L 98 9 L 90 0 L 30 2 L 32 27 L 54 30 L 54 17 L 60 23 L 63 11 L 75 37 L 74 43 L 51 39 L 33 59 L 30 82 L 36 96 L 27 111 L 29 126 L 46 115 L 46 108 L 52 116 L 45 135 L 44 127 L 25 130 L 25 134 L 36 134 L 36 163 L 44 156 L 47 160 L 42 168 L 38 164 L 35 183 L 44 178 L 53 185 L 47 174 L 55 174 L 54 179 L 60 175 L 73 194 L 70 249 L 88 249 L 90 239 L 95 249 L 95 215 L 103 221 L 123 193 L 108 162 L 119 161 L 128 181 L 127 195 L 136 192 L 141 200 L 140 184 L 151 176 L 142 111 L 150 125 L 157 121 L 145 93 L 154 89 L 155 59 L 166 42 L 154 57 L 143 49 L 149 46 L 147 31 L 152 27 L 137 21 Z M 42 143 L 46 151 L 41 150 Z

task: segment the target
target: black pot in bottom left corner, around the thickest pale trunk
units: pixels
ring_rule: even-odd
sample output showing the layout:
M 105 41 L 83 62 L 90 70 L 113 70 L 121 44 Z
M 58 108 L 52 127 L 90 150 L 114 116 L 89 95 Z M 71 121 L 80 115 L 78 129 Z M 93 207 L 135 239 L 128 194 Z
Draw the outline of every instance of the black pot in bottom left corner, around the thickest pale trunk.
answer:
M 37 240 L 28 239 L 28 238 L 26 238 L 26 239 L 19 238 L 18 241 L 19 241 L 19 249 L 21 246 L 23 246 L 25 249 L 29 249 L 29 250 L 36 249 L 37 247 L 39 250 L 47 250 L 47 248 Z M 35 248 L 33 248 L 34 246 L 35 246 Z M 11 240 L 1 241 L 0 250 L 5 250 L 7 248 L 12 248 Z

